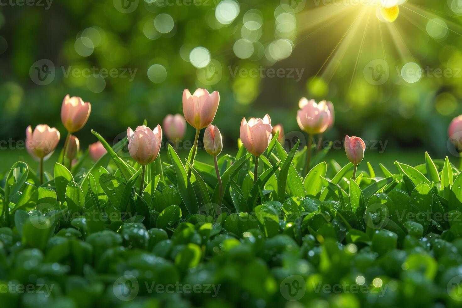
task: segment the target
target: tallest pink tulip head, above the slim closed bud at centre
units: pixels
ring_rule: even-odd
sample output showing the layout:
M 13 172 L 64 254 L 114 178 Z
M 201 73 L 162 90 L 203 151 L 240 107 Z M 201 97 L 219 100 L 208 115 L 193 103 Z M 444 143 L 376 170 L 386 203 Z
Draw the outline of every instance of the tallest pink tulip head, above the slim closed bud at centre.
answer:
M 183 114 L 188 123 L 196 129 L 202 129 L 212 123 L 220 102 L 218 91 L 209 94 L 205 89 L 197 89 L 193 95 L 184 89 Z

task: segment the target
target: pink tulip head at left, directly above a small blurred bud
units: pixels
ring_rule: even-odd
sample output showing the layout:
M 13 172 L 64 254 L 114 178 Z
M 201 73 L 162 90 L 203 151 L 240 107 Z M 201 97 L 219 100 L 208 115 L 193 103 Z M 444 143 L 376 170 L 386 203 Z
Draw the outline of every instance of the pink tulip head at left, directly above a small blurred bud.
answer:
M 61 105 L 61 121 L 69 133 L 75 133 L 85 126 L 90 116 L 91 104 L 80 97 L 64 97 Z

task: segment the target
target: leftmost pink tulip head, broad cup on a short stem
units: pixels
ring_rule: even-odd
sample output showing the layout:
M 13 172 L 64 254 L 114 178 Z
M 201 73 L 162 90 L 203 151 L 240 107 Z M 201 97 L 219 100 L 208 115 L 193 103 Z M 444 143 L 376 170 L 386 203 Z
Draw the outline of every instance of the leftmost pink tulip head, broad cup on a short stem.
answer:
M 26 149 L 36 160 L 47 160 L 56 149 L 60 133 L 56 127 L 50 128 L 46 124 L 37 125 L 32 132 L 30 125 L 26 129 Z

